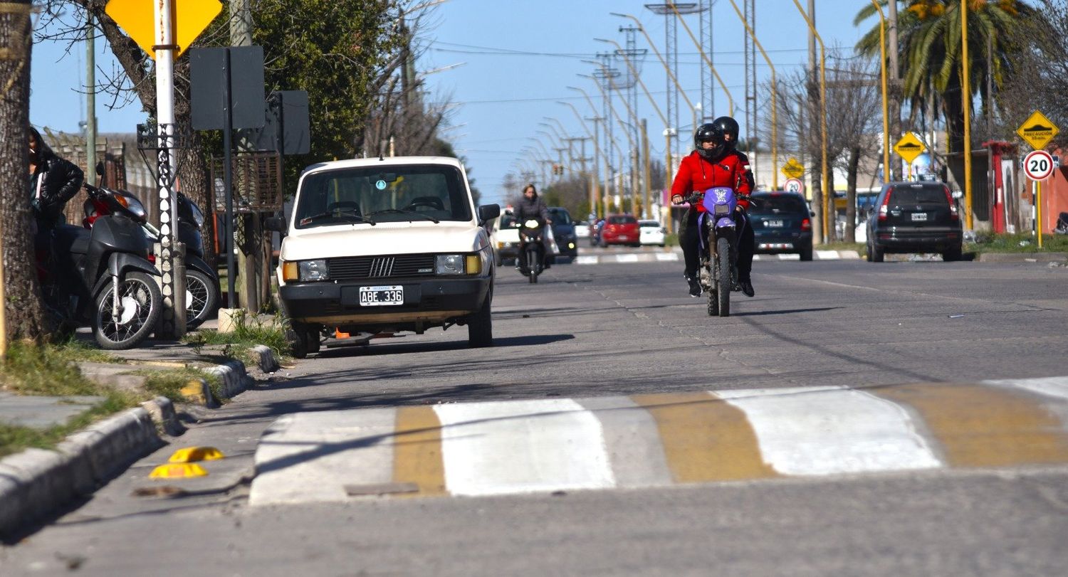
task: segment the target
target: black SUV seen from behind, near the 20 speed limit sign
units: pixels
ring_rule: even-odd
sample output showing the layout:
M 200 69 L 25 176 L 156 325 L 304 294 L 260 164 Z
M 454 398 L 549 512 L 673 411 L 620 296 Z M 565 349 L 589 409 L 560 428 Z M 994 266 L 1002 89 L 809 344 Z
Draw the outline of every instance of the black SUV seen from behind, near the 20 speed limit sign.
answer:
M 868 215 L 867 259 L 885 253 L 942 253 L 959 260 L 963 235 L 957 202 L 942 182 L 888 182 Z

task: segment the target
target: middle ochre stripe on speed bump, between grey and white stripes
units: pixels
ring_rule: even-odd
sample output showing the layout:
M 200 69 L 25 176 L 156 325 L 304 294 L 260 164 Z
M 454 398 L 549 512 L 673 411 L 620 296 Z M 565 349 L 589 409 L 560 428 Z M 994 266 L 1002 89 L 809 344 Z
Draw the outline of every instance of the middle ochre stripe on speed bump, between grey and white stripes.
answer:
M 634 395 L 657 421 L 668 466 L 680 483 L 778 477 L 760 455 L 745 414 L 709 392 Z

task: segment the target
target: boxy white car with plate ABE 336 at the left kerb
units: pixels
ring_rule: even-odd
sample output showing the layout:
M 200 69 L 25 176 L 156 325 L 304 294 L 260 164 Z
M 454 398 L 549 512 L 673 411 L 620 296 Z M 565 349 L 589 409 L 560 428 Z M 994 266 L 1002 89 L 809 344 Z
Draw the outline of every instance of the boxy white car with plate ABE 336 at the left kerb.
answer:
M 279 255 L 279 296 L 294 356 L 324 335 L 468 326 L 472 347 L 493 334 L 493 249 L 454 158 L 396 157 L 313 164 L 300 175 Z

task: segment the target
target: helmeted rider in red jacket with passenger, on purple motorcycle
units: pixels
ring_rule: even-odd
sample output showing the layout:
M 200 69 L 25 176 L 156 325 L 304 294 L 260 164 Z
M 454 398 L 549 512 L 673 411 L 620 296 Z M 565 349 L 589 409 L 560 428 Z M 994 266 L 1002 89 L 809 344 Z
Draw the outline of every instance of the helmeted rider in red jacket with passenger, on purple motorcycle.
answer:
M 727 130 L 724 130 L 726 128 Z M 678 173 L 672 182 L 672 203 L 680 204 L 693 191 L 704 192 L 713 187 L 729 187 L 738 195 L 735 222 L 738 230 L 738 285 L 747 296 L 753 296 L 753 229 L 749 225 L 745 209 L 749 193 L 753 191 L 753 173 L 749 169 L 749 158 L 735 150 L 738 141 L 738 123 L 728 116 L 721 116 L 711 124 L 701 125 L 693 135 L 694 150 L 682 159 Z M 701 295 L 697 281 L 698 230 L 697 214 L 704 212 L 701 205 L 691 206 L 687 211 L 686 225 L 680 243 L 686 258 L 686 281 L 690 285 L 690 295 Z

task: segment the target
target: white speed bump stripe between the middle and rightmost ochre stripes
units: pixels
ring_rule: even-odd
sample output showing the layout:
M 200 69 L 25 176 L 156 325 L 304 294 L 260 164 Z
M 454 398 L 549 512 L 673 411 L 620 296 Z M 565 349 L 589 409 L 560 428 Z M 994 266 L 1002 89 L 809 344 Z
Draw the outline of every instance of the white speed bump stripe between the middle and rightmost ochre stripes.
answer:
M 942 466 L 904 408 L 863 391 L 797 387 L 712 394 L 745 413 L 765 462 L 784 475 Z

